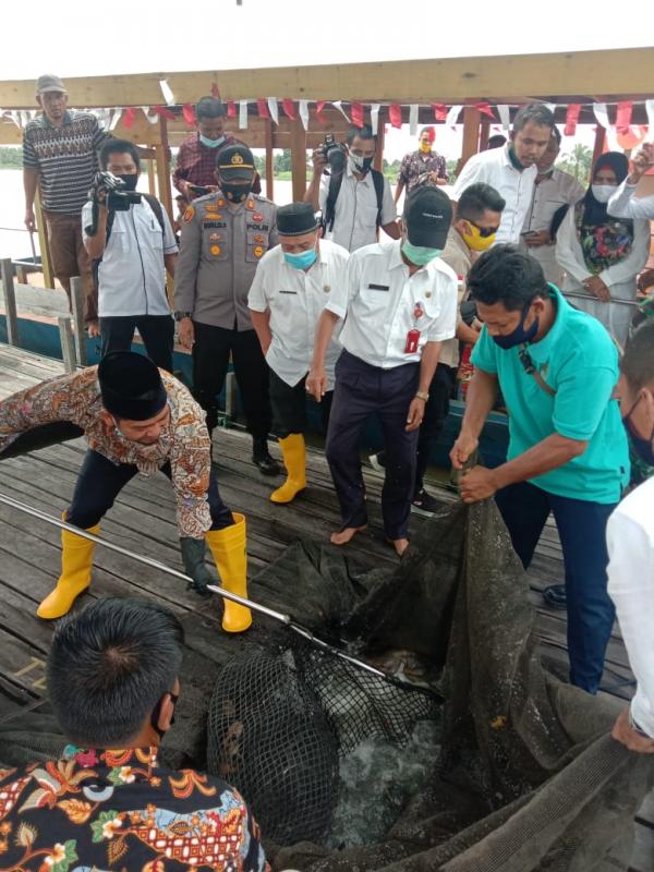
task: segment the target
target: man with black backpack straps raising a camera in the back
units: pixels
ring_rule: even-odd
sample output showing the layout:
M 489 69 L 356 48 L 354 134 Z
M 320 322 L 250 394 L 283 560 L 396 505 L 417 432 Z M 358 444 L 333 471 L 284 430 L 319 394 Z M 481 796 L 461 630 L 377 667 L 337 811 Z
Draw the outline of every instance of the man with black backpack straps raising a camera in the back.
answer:
M 313 178 L 304 202 L 322 210 L 325 239 L 349 252 L 377 242 L 379 228 L 392 239 L 400 235 L 388 180 L 373 169 L 376 147 L 377 137 L 364 124 L 350 128 L 347 148 L 341 152 L 342 169 L 332 165 L 331 172 L 326 172 L 324 147 L 313 153 Z

